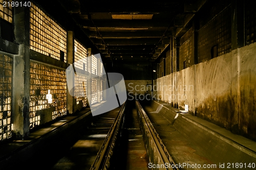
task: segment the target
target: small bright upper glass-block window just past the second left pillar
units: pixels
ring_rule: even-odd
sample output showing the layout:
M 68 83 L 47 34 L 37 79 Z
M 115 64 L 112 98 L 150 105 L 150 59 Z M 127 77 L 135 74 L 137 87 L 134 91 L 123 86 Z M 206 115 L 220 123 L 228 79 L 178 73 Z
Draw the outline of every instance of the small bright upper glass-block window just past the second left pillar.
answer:
M 87 49 L 75 40 L 75 67 L 87 71 Z

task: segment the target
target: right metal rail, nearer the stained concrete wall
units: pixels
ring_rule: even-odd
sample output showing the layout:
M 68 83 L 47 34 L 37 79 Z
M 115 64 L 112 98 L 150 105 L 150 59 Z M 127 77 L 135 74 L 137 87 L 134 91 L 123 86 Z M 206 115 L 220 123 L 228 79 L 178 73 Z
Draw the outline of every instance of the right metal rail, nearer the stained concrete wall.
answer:
M 157 169 L 178 170 L 178 164 L 174 162 L 172 156 L 168 153 L 166 146 L 163 144 L 153 124 L 137 100 L 136 109 L 139 114 L 140 126 L 150 162 L 153 164 L 163 165 L 163 167 Z

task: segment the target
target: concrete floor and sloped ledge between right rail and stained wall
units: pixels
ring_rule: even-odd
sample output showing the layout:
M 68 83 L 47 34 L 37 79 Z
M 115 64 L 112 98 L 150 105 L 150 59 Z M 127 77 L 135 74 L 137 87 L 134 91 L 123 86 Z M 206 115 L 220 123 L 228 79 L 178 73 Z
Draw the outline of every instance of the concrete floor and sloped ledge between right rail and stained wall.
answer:
M 232 169 L 236 163 L 240 169 L 255 166 L 255 141 L 232 134 L 201 118 L 178 113 L 178 109 L 161 101 L 151 101 L 142 106 L 176 163 L 216 165 L 216 168 L 204 169 Z

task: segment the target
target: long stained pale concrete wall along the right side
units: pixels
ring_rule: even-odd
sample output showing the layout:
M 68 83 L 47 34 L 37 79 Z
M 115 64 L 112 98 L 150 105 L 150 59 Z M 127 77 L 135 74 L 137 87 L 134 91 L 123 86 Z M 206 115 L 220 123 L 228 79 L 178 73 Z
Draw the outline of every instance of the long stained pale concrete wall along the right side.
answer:
M 256 140 L 256 43 L 154 81 L 159 100 Z M 176 81 L 177 78 L 177 81 Z

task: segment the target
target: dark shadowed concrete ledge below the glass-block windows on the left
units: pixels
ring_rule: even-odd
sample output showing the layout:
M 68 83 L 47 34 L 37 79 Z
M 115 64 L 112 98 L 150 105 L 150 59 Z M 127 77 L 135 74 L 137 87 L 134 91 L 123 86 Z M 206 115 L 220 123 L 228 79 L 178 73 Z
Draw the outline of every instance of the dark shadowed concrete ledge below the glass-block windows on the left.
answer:
M 96 106 L 104 103 L 96 103 Z M 91 109 L 83 109 L 76 114 L 63 117 L 52 124 L 43 125 L 38 130 L 32 130 L 26 140 L 6 141 L 0 144 L 0 169 L 13 169 L 16 167 L 26 167 L 35 169 L 40 166 L 49 166 L 52 160 L 63 155 L 67 151 L 68 145 L 74 143 L 84 126 L 93 117 Z M 52 154 L 51 151 L 55 151 Z M 47 158 L 46 158 L 47 155 Z M 50 161 L 49 161 L 50 160 Z

